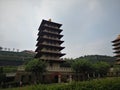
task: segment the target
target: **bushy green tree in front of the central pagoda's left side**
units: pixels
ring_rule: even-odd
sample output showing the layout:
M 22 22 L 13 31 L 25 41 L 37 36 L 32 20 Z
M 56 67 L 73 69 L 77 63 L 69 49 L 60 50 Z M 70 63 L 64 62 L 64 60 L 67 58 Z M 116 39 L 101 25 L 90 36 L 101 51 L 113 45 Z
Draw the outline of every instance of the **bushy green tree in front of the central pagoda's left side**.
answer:
M 46 71 L 47 64 L 39 59 L 33 59 L 26 65 L 25 70 L 30 71 L 35 75 L 35 82 L 41 82 L 42 74 Z

